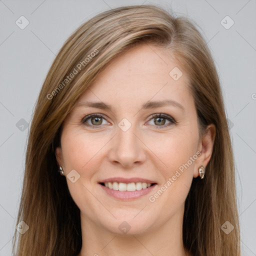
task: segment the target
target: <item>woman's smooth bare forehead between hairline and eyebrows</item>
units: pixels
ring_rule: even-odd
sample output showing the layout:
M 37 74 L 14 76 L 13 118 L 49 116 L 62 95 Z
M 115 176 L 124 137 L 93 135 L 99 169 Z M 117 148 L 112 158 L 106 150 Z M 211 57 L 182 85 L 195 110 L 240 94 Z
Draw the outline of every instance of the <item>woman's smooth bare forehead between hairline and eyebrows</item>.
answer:
M 150 99 L 174 99 L 189 105 L 192 98 L 188 84 L 187 75 L 171 52 L 141 44 L 112 59 L 77 104 L 93 100 L 127 107 L 127 104 L 141 105 Z

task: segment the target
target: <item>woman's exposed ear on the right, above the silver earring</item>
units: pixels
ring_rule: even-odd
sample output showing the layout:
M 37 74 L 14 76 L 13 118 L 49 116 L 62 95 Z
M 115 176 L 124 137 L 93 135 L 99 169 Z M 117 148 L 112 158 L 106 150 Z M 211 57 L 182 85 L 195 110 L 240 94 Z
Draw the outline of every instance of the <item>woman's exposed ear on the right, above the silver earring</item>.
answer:
M 213 123 L 211 123 L 207 126 L 199 142 L 198 150 L 201 152 L 201 154 L 196 159 L 194 164 L 194 171 L 193 171 L 194 178 L 199 176 L 198 168 L 201 165 L 203 165 L 205 168 L 210 160 L 212 150 L 213 150 L 215 135 L 216 135 L 216 127 Z

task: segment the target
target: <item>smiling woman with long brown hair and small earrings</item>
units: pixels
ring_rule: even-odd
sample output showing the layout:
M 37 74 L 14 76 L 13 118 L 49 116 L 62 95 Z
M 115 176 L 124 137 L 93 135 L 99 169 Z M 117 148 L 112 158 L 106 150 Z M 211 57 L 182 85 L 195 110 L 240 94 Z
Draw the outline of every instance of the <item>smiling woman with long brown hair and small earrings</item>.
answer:
M 240 255 L 227 119 L 195 26 L 153 5 L 82 24 L 41 88 L 23 182 L 18 255 Z

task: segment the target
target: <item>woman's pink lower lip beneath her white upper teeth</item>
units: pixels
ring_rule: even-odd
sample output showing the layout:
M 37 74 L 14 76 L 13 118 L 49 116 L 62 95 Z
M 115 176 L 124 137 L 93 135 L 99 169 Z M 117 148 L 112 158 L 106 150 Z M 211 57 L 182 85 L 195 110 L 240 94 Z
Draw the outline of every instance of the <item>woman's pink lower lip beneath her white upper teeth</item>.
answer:
M 149 186 L 147 188 L 142 188 L 140 190 L 135 190 L 135 191 L 119 191 L 119 190 L 114 190 L 114 189 L 110 189 L 106 186 L 103 186 L 101 184 L 99 184 L 102 189 L 109 194 L 110 196 L 116 198 L 116 199 L 120 199 L 120 200 L 133 200 L 136 199 L 140 196 L 143 196 L 145 194 L 148 194 L 150 191 L 152 191 L 152 189 L 154 189 L 154 187 L 156 186 L 156 184 Z

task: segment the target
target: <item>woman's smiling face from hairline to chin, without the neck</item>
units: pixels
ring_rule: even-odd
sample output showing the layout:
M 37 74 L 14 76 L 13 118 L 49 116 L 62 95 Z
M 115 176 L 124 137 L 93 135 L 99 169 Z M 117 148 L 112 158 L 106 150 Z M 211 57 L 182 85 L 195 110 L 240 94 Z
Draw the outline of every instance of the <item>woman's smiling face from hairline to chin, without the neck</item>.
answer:
M 56 155 L 84 222 L 135 234 L 183 216 L 203 164 L 188 84 L 171 52 L 143 44 L 113 59 L 80 96 Z

